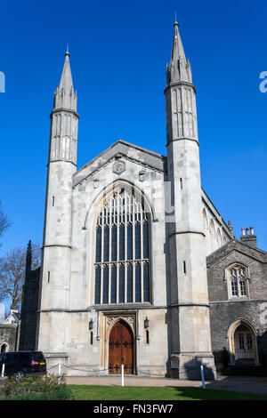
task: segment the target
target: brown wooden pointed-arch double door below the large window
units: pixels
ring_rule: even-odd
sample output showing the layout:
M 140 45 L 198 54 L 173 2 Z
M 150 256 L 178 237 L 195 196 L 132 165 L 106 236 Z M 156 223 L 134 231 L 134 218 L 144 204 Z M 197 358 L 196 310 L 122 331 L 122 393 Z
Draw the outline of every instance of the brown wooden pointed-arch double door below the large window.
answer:
M 109 333 L 109 374 L 134 374 L 134 335 L 125 321 L 119 320 Z

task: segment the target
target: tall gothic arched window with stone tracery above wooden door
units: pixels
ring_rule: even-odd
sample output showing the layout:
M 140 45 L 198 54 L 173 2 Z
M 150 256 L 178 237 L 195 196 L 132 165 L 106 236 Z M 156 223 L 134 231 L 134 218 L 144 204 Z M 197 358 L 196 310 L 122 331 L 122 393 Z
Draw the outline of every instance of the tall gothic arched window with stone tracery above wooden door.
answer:
M 118 189 L 96 225 L 94 303 L 150 301 L 150 222 L 134 189 Z

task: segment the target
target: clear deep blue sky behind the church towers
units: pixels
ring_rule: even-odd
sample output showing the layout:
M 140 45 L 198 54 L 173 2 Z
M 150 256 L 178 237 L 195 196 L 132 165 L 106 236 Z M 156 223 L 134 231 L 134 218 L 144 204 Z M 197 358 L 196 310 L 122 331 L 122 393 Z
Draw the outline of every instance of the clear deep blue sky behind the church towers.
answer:
M 267 250 L 267 4 L 14 1 L 1 5 L 1 189 L 12 221 L 0 253 L 42 242 L 53 91 L 69 42 L 78 167 L 119 138 L 166 155 L 165 68 L 174 12 L 197 88 L 202 185 L 236 237 Z

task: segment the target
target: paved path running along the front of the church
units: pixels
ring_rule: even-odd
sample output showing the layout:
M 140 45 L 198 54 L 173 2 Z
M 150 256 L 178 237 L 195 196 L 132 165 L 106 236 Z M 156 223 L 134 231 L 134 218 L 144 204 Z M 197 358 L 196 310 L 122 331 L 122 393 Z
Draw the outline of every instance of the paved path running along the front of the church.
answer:
M 67 377 L 68 384 L 120 386 L 120 376 L 102 377 Z M 183 381 L 161 377 L 125 376 L 125 386 L 174 386 L 194 387 L 202 386 L 199 381 Z M 258 393 L 267 395 L 267 377 L 228 377 L 223 376 L 216 381 L 206 382 L 206 389 L 232 390 L 236 392 Z

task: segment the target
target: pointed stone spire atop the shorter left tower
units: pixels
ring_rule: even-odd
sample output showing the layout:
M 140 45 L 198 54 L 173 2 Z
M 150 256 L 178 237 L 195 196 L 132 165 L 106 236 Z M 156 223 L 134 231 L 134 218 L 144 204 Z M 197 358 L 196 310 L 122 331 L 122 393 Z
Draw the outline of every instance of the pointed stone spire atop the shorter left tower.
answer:
M 77 111 L 77 92 L 74 92 L 73 88 L 69 63 L 69 44 L 67 44 L 67 51 L 65 52 L 61 82 L 54 94 L 54 109 L 70 109 Z

